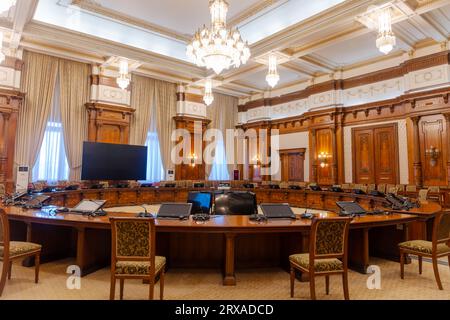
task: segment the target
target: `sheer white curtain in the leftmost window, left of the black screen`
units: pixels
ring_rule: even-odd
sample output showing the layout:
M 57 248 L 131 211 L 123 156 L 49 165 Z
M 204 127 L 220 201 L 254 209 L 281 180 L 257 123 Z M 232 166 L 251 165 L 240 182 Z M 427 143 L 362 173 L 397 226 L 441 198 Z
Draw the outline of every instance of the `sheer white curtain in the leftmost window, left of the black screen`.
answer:
M 59 77 L 57 77 L 44 139 L 33 167 L 33 181 L 46 180 L 55 182 L 69 178 L 69 164 L 67 163 L 64 147 L 64 133 L 59 106 L 59 80 Z

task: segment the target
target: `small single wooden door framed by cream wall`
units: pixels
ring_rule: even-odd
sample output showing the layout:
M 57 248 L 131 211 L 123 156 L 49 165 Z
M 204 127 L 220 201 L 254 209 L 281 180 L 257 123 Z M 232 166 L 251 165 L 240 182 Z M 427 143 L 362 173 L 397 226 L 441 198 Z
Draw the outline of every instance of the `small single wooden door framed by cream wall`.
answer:
M 280 150 L 281 180 L 304 181 L 305 148 Z

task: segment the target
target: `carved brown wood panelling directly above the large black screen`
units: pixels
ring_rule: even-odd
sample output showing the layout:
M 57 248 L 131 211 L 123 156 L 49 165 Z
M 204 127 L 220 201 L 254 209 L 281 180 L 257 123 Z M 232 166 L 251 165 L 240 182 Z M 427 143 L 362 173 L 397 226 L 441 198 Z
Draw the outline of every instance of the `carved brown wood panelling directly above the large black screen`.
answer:
M 134 109 L 89 102 L 88 140 L 104 143 L 129 143 L 130 122 Z

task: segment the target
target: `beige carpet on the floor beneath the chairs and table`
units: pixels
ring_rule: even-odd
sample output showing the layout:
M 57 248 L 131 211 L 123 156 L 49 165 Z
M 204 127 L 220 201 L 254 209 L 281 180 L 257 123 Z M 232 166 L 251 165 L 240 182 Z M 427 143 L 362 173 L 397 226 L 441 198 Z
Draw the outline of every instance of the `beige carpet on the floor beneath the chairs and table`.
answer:
M 34 284 L 33 268 L 16 263 L 13 278 L 7 282 L 0 299 L 109 299 L 109 269 L 105 268 L 81 278 L 81 289 L 66 287 L 65 273 L 72 260 L 43 264 L 41 281 Z M 417 261 L 406 266 L 405 280 L 399 277 L 399 264 L 373 259 L 381 268 L 381 289 L 369 290 L 369 275 L 350 271 L 351 299 L 450 299 L 450 269 L 441 265 L 440 274 L 444 290 L 437 289 L 431 264 L 424 262 L 423 274 L 418 274 Z M 289 274 L 281 269 L 238 270 L 237 285 L 222 286 L 220 270 L 170 269 L 166 276 L 166 299 L 290 299 Z M 331 277 L 330 295 L 325 295 L 324 279 L 317 283 L 318 299 L 343 299 L 341 278 Z M 118 286 L 117 286 L 118 290 Z M 127 280 L 125 299 L 146 299 L 148 286 L 140 281 Z M 159 285 L 155 288 L 159 294 Z M 309 299 L 309 284 L 296 281 L 295 299 Z

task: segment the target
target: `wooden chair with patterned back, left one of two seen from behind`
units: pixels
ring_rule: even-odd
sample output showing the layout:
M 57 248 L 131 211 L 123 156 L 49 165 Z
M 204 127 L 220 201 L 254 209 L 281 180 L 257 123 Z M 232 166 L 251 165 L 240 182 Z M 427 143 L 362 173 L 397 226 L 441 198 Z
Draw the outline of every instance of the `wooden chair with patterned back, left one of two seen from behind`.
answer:
M 155 256 L 155 220 L 153 218 L 110 218 L 112 235 L 111 292 L 114 300 L 116 279 L 120 279 L 123 299 L 125 279 L 143 279 L 150 284 L 149 299 L 159 275 L 160 299 L 164 295 L 166 258 Z

